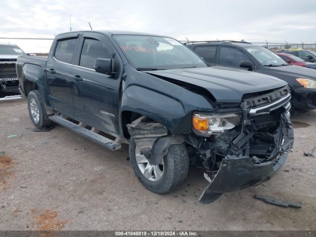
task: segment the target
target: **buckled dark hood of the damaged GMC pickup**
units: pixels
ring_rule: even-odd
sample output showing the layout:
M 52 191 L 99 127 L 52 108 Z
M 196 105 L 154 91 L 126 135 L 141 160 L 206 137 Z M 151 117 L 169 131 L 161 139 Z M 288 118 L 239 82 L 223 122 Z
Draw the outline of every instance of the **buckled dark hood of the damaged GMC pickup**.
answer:
M 205 88 L 220 103 L 240 102 L 244 94 L 276 89 L 287 84 L 272 76 L 220 66 L 144 72 Z

